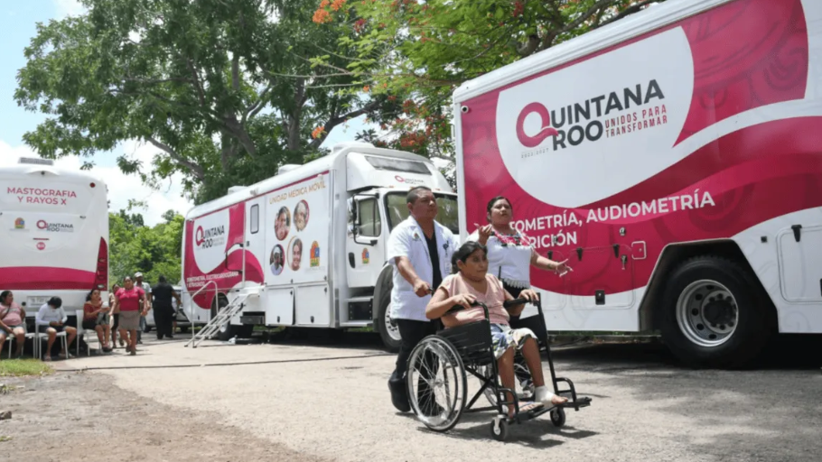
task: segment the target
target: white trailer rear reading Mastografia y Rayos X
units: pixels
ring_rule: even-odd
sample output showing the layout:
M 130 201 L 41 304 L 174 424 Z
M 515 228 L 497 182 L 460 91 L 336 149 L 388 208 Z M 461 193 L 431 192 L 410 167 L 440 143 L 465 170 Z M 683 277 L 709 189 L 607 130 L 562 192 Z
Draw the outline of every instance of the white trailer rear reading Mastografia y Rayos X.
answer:
M 0 291 L 33 319 L 53 296 L 81 310 L 93 288 L 107 299 L 106 184 L 46 159 L 0 168 Z

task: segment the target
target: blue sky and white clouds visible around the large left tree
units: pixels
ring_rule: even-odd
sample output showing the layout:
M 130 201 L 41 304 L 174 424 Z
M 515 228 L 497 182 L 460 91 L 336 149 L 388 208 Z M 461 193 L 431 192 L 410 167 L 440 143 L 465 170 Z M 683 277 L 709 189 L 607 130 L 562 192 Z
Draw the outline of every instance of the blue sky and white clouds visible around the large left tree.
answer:
M 45 117 L 27 112 L 14 102 L 17 70 L 25 66 L 23 49 L 37 33 L 36 24 L 48 23 L 51 19 L 61 19 L 69 14 L 81 14 L 82 11 L 76 0 L 11 0 L 4 1 L 0 6 L 0 165 L 16 163 L 21 155 L 36 155 L 23 143 L 23 134 L 33 130 Z M 352 120 L 347 127 L 335 127 L 323 145 L 353 140 L 354 134 L 363 128 L 364 118 L 361 116 Z M 146 164 L 151 162 L 155 151 L 144 145 L 124 143 L 112 152 L 101 152 L 95 156 L 96 167 L 92 173 L 107 182 L 113 211 L 126 208 L 128 199 L 150 201 L 151 208 L 136 211 L 144 215 L 146 224 L 154 225 L 169 208 L 182 214 L 191 208 L 191 202 L 181 196 L 179 179 L 164 184 L 160 190 L 152 190 L 142 185 L 135 176 L 128 177 L 118 171 L 116 160 L 124 152 Z M 58 163 L 68 168 L 79 168 L 81 164 L 76 158 L 61 159 Z

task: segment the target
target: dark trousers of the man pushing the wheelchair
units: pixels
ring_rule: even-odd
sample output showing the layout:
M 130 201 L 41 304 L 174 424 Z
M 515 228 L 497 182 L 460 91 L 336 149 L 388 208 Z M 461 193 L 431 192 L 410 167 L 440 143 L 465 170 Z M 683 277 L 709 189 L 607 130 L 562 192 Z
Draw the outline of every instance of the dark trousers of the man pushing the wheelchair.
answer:
M 423 338 L 434 335 L 436 331 L 441 328 L 440 321 L 415 321 L 411 319 L 397 319 L 397 328 L 399 328 L 399 335 L 402 336 L 402 345 L 399 347 L 397 354 L 397 364 L 394 369 L 394 374 L 391 374 L 392 381 L 399 381 L 405 378 L 406 369 L 408 365 L 408 357 L 411 356 L 411 351 L 414 350 Z M 423 357 L 423 364 L 425 369 L 421 371 L 420 378 L 417 382 L 417 399 L 420 403 L 420 408 L 426 414 L 434 414 L 434 395 L 429 393 L 428 383 L 423 380 L 423 375 L 426 378 L 431 378 L 428 375 L 436 374 L 439 364 L 433 354 L 426 354 Z

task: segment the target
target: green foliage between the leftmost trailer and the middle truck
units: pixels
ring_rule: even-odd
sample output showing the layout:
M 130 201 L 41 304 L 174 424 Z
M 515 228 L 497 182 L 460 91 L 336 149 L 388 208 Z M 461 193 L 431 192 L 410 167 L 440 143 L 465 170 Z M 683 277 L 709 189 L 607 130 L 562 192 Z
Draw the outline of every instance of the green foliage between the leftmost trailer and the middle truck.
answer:
M 170 283 L 181 277 L 182 215 L 168 210 L 165 223 L 154 227 L 143 225 L 140 214 L 108 214 L 109 286 L 122 282 L 126 275 L 142 272 L 145 282 L 155 284 L 163 274 Z

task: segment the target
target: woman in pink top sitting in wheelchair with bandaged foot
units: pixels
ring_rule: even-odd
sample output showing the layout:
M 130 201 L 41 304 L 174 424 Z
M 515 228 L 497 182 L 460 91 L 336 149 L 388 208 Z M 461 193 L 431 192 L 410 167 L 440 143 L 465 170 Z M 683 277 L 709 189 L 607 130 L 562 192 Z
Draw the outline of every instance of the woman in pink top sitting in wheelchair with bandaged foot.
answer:
M 463 244 L 452 257 L 453 274 L 447 276 L 434 292 L 425 316 L 428 319 L 440 318 L 445 328 L 454 328 L 485 319 L 481 307 L 472 307 L 474 301 L 488 307 L 490 334 L 494 348 L 494 357 L 500 371 L 502 386 L 514 390 L 514 348 L 521 351 L 528 364 L 528 370 L 534 379 L 536 390 L 534 399 L 537 403 L 556 405 L 567 402 L 567 398 L 552 393 L 545 384 L 542 372 L 542 360 L 537 347 L 537 336 L 528 328 L 512 329 L 509 325 L 510 314 L 517 316 L 525 308 L 524 304 L 503 308 L 505 300 L 514 300 L 511 294 L 502 288 L 502 282 L 488 273 L 488 250 L 480 243 L 469 241 Z M 537 292 L 522 291 L 520 298 L 537 300 Z M 454 305 L 462 305 L 464 310 L 445 314 Z M 511 401 L 513 401 L 512 398 Z M 509 416 L 513 416 L 514 405 L 509 404 Z

